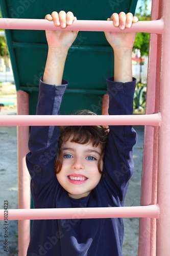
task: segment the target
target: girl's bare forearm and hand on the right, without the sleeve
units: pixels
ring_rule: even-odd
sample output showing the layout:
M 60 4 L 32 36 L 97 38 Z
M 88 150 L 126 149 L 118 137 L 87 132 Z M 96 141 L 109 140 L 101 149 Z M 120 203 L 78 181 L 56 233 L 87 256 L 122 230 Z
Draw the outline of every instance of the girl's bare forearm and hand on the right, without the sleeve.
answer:
M 132 13 L 113 13 L 108 20 L 113 20 L 113 25 L 124 30 L 130 28 L 138 21 Z M 105 32 L 106 39 L 114 50 L 114 81 L 132 81 L 132 49 L 136 37 L 135 32 Z

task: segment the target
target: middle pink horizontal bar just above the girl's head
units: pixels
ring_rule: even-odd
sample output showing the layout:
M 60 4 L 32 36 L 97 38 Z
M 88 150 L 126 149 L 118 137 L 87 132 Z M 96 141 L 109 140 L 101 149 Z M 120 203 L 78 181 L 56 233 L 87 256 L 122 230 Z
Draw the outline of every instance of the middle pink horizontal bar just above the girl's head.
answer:
M 0 126 L 48 125 L 152 125 L 160 126 L 161 114 L 151 115 L 1 115 Z

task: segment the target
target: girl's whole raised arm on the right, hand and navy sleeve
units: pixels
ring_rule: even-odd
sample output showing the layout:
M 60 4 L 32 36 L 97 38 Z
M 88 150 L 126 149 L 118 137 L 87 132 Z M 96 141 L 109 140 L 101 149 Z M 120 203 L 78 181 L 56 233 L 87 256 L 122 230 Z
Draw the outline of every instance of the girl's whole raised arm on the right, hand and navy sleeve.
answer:
M 113 25 L 124 29 L 137 22 L 131 13 L 114 13 Z M 109 20 L 110 20 L 109 19 Z M 132 115 L 135 79 L 132 78 L 132 49 L 136 33 L 106 32 L 107 40 L 114 50 L 114 78 L 107 79 L 109 115 Z M 129 179 L 133 174 L 132 148 L 136 133 L 130 125 L 109 126 L 105 154 L 105 178 L 108 191 L 115 206 L 123 206 Z

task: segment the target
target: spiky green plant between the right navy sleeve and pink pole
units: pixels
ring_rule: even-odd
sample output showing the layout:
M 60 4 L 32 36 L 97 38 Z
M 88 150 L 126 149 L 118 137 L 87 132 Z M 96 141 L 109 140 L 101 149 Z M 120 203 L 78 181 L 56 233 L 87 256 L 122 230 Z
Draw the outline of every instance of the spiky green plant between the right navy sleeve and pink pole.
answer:
M 134 110 L 142 112 L 145 110 L 147 84 L 137 83 L 134 93 Z

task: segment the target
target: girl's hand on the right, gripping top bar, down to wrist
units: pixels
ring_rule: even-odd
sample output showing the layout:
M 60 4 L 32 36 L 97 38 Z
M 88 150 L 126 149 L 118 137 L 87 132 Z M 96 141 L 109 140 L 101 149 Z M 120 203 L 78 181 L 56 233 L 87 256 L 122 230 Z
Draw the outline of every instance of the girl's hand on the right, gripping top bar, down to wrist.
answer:
M 136 16 L 133 16 L 132 13 L 125 14 L 125 12 L 113 13 L 108 20 L 113 20 L 113 25 L 121 30 L 130 28 L 133 23 L 138 22 Z M 105 32 L 105 36 L 113 50 L 117 48 L 132 49 L 136 32 Z

